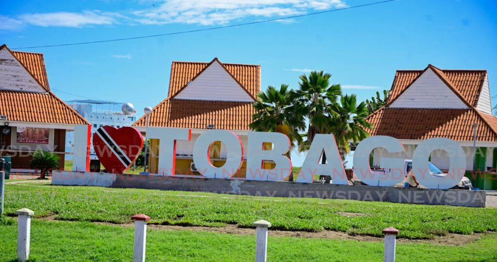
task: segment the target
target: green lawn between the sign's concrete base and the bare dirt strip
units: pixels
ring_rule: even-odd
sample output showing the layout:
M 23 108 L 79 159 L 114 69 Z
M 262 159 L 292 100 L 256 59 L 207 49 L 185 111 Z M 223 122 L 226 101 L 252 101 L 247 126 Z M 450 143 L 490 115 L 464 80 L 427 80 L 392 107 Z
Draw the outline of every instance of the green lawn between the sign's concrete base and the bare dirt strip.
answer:
M 383 236 L 393 226 L 399 237 L 423 239 L 447 233 L 496 231 L 496 208 L 429 206 L 316 198 L 271 198 L 200 192 L 161 191 L 89 186 L 52 186 L 23 182 L 6 184 L 5 213 L 22 207 L 36 217 L 59 220 L 131 222 L 134 214 L 149 215 L 151 223 L 220 227 L 251 227 L 259 219 L 273 230 L 332 230 Z M 344 217 L 338 212 L 361 213 Z

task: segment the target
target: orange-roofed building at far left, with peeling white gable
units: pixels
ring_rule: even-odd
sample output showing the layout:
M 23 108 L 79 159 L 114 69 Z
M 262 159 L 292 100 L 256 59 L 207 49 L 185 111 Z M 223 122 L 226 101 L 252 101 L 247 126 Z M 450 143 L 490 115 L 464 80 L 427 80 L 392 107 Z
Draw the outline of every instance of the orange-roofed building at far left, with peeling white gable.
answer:
M 36 149 L 56 152 L 64 168 L 66 131 L 89 123 L 50 91 L 43 54 L 0 46 L 0 155 L 13 171 L 31 171 Z

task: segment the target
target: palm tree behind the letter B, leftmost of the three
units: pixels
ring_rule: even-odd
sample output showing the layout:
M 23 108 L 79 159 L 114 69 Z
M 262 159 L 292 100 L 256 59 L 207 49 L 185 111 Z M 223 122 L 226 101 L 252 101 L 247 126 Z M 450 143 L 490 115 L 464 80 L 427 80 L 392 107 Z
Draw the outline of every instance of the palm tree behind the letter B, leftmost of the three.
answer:
M 257 101 L 253 103 L 255 113 L 252 115 L 250 129 L 263 132 L 278 132 L 290 138 L 292 147 L 295 141 L 302 140 L 299 131 L 304 130 L 304 116 L 300 112 L 302 107 L 295 107 L 293 91 L 288 85 L 281 84 L 279 89 L 268 86 L 266 91 L 257 94 Z M 287 153 L 290 158 L 290 151 Z M 293 174 L 289 181 L 293 181 Z

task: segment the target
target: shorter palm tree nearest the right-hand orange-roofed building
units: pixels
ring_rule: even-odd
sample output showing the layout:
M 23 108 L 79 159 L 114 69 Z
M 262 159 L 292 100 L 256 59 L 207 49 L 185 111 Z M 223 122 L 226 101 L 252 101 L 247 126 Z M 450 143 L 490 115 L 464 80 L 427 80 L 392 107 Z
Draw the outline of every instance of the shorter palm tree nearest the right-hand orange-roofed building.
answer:
M 340 156 L 344 160 L 345 154 L 350 152 L 348 141 L 357 143 L 369 136 L 365 130 L 372 128 L 372 125 L 365 120 L 369 115 L 368 106 L 365 102 L 357 104 L 355 94 L 346 94 L 340 97 L 339 104 L 333 105 L 333 111 L 336 114 L 330 119 L 330 129 L 340 148 Z

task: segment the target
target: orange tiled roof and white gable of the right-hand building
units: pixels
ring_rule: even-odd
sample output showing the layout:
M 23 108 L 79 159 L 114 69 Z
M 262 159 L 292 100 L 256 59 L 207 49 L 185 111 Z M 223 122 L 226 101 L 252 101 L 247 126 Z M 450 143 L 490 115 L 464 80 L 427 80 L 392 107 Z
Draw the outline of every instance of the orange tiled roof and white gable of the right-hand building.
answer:
M 423 78 L 426 76 L 431 78 L 428 81 L 431 86 L 443 88 L 433 92 L 430 88 L 416 87 L 425 81 Z M 366 119 L 373 125 L 369 133 L 397 139 L 444 137 L 456 141 L 472 141 L 473 123 L 477 123 L 478 141 L 497 142 L 497 118 L 491 111 L 486 112 L 491 108 L 487 79 L 485 70 L 441 70 L 432 65 L 424 70 L 397 71 L 387 104 Z M 440 103 L 442 100 L 437 96 L 451 91 L 448 99 L 457 100 L 458 105 L 462 101 L 465 106 L 443 108 L 438 104 L 432 106 L 424 102 L 424 106 L 414 104 L 412 107 L 403 107 L 401 101 L 415 94 L 413 87 L 414 91 L 424 96 L 424 100 L 435 97 L 433 103 Z M 418 102 L 423 103 L 422 100 Z

